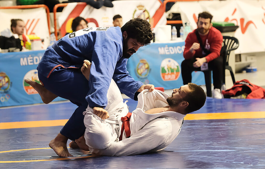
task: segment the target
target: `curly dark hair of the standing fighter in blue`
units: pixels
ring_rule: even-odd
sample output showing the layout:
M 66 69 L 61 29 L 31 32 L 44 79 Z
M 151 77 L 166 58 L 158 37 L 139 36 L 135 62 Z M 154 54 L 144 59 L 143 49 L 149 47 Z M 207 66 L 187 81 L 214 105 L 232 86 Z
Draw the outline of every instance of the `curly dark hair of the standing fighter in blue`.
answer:
M 151 25 L 147 20 L 134 18 L 121 27 L 122 33 L 127 32 L 128 38 L 136 39 L 143 45 L 148 45 L 153 39 Z

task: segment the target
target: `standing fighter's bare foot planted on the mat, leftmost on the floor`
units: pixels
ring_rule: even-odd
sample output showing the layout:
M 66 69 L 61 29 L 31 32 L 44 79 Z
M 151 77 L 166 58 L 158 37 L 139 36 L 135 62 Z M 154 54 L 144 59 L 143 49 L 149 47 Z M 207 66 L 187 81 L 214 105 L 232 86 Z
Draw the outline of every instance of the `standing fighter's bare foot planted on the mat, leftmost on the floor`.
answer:
M 66 144 L 61 141 L 56 141 L 55 139 L 53 139 L 49 143 L 49 146 L 60 157 L 72 157 L 72 155 L 68 152 Z

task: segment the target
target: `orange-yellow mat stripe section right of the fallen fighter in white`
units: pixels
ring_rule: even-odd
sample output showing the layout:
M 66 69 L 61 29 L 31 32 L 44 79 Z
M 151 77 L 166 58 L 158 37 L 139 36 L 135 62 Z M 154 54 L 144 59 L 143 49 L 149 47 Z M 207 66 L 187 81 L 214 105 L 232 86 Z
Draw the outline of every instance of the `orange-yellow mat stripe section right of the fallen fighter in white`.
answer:
M 187 114 L 184 117 L 184 120 L 210 120 L 210 119 L 234 119 L 234 118 L 265 118 L 265 111 Z

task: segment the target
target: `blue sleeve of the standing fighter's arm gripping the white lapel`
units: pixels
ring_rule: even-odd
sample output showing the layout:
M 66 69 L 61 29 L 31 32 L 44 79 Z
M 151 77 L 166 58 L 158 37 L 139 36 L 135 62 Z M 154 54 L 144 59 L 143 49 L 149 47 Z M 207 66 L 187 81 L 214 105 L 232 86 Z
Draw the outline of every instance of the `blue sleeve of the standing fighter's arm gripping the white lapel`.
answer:
M 143 85 L 142 82 L 134 80 L 127 71 L 127 59 L 121 58 L 115 68 L 113 80 L 120 91 L 128 97 L 134 99 L 135 92 Z

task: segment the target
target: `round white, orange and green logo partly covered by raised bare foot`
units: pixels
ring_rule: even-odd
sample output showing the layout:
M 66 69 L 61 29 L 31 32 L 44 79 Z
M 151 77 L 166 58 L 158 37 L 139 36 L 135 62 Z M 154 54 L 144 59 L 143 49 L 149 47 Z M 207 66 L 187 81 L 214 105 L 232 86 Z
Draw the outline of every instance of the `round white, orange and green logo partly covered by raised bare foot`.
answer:
M 38 92 L 29 84 L 25 82 L 25 79 L 36 81 L 41 84 L 38 77 L 38 71 L 36 69 L 28 71 L 23 78 L 23 88 L 27 94 L 38 94 Z

